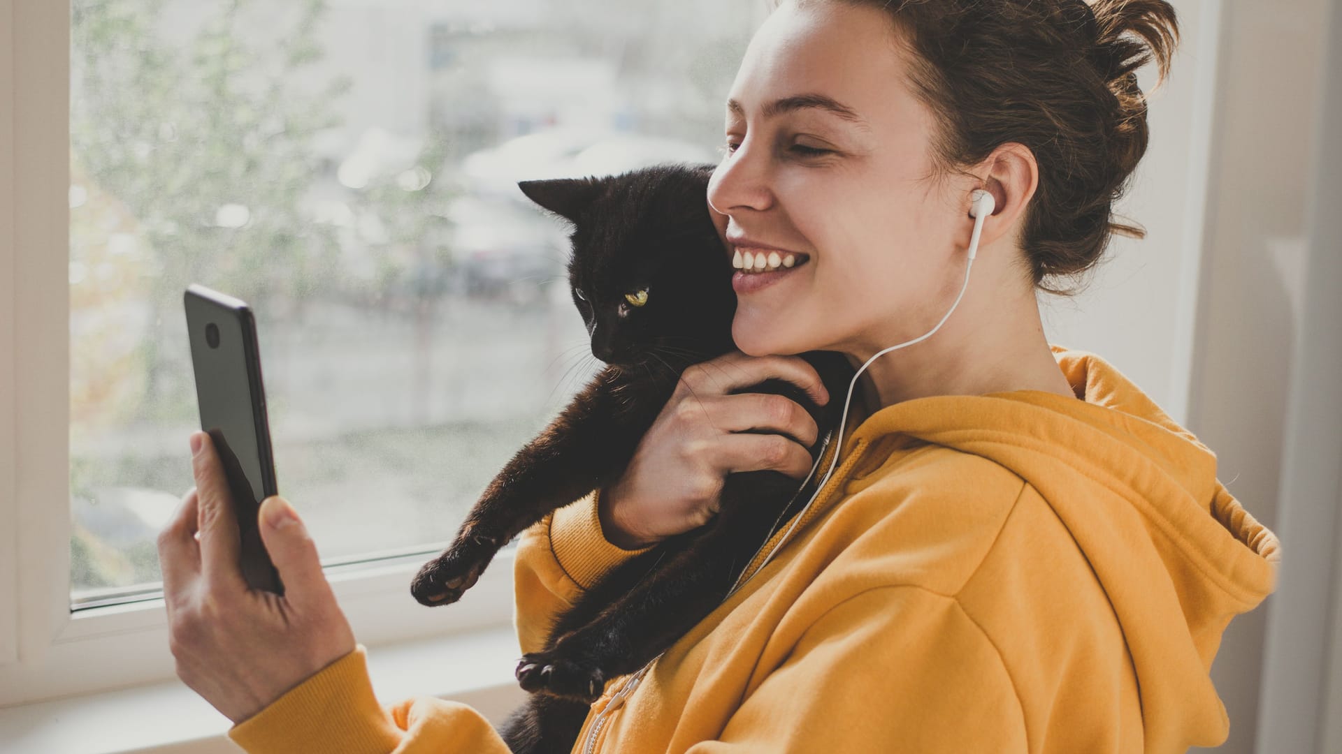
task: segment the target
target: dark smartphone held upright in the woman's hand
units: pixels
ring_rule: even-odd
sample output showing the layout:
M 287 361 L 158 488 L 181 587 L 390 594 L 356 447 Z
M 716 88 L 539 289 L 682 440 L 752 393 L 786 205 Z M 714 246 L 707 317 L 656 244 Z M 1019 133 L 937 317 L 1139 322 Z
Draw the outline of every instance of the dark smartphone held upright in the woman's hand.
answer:
M 260 502 L 278 495 L 266 389 L 260 381 L 256 319 L 240 299 L 199 283 L 187 287 L 187 331 L 196 374 L 200 428 L 219 451 L 242 535 L 243 578 L 252 589 L 285 593 L 260 541 Z

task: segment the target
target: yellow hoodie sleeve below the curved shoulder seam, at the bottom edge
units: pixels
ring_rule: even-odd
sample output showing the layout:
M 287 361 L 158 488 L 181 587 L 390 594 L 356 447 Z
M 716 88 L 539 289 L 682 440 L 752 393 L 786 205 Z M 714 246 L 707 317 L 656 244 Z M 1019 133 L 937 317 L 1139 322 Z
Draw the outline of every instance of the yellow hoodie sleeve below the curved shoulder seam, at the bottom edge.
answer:
M 688 751 L 1027 750 L 1012 679 L 960 602 L 919 586 L 879 586 L 816 620 L 718 741 Z

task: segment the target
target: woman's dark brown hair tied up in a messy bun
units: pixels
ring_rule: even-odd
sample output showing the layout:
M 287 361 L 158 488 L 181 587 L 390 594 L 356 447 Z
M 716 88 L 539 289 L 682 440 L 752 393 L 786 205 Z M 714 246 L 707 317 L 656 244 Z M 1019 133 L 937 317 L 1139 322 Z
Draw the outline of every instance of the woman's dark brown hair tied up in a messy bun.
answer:
M 805 0 L 803 0 L 805 1 Z M 974 165 L 1005 142 L 1031 149 L 1039 186 L 1020 244 L 1032 283 L 1072 295 L 1114 232 L 1113 219 L 1146 153 L 1146 97 L 1137 68 L 1157 63 L 1158 87 L 1178 42 L 1165 0 L 836 0 L 890 15 L 915 60 L 911 85 L 939 123 L 945 172 Z

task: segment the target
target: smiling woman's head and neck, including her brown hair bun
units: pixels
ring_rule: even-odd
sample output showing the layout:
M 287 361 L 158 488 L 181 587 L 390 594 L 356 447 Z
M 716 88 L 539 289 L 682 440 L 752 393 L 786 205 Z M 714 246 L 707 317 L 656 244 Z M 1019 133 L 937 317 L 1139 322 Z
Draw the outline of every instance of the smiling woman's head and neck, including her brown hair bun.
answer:
M 766 23 L 774 34 L 746 52 L 709 201 L 742 251 L 812 264 L 743 278 L 738 292 L 758 295 L 742 295 L 733 337 L 749 354 L 824 349 L 862 362 L 929 331 L 960 290 L 962 217 L 969 192 L 985 188 L 997 208 L 962 313 L 938 339 L 876 362 L 866 389 L 879 397 L 868 398 L 1068 394 L 1035 288 L 1092 267 L 1108 233 L 1129 229 L 1110 215 L 1146 145 L 1134 71 L 1151 58 L 1168 71 L 1173 11 L 884 5 L 784 5 Z M 844 35 L 825 34 L 836 25 Z M 1095 149 L 1099 137 L 1108 150 Z M 985 361 L 1000 366 L 973 364 Z

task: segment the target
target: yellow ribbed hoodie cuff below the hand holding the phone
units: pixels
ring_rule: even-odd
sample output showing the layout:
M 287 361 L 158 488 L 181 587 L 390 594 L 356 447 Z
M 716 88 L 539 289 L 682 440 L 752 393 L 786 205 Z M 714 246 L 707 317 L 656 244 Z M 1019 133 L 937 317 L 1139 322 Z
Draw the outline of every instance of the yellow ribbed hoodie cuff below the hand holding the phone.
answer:
M 362 644 L 228 730 L 251 754 L 385 754 L 403 735 L 373 695 Z

